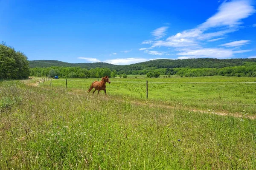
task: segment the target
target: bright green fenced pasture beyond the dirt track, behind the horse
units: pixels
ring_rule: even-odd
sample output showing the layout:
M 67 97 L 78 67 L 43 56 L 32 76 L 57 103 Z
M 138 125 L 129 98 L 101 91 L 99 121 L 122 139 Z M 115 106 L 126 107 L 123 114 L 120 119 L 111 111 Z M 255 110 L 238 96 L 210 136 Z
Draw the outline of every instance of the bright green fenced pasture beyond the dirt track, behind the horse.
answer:
M 97 79 L 67 79 L 67 90 L 86 92 L 95 80 Z M 146 99 L 146 80 L 148 80 L 148 99 Z M 255 115 L 256 83 L 254 82 L 256 78 L 253 77 L 112 78 L 111 84 L 106 85 L 106 91 L 110 97 L 149 104 L 236 114 L 246 112 Z M 50 88 L 50 81 L 40 86 Z M 51 88 L 65 87 L 65 79 L 52 79 Z M 100 95 L 104 95 L 104 92 L 100 91 Z

